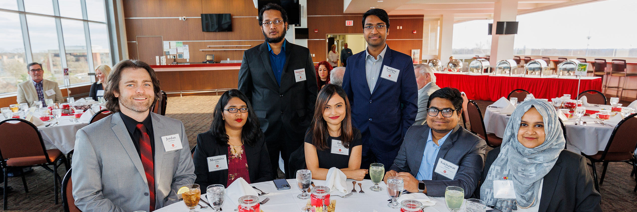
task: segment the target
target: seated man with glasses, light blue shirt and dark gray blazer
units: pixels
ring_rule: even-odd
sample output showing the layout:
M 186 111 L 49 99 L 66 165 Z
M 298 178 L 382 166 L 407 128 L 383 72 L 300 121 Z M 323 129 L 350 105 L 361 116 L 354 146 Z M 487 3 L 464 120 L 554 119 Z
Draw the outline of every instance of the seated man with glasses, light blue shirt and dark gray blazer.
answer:
M 407 131 L 394 164 L 385 174 L 403 178 L 408 192 L 443 197 L 445 188 L 464 189 L 468 198 L 482 174 L 487 143 L 458 125 L 462 96 L 455 88 L 438 89 L 429 96 L 427 124 Z

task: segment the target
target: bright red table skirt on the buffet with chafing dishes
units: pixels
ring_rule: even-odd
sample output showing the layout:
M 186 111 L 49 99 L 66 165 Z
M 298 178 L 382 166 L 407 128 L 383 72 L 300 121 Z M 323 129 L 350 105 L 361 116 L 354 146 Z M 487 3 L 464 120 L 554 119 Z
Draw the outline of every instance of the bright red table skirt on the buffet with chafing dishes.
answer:
M 564 94 L 577 96 L 580 92 L 595 89 L 601 91 L 601 78 L 582 79 L 577 91 L 577 79 L 531 78 L 465 74 L 435 73 L 436 84 L 440 88 L 452 87 L 467 94 L 470 100 L 488 100 L 495 102 L 502 96 L 508 96 L 514 89 L 525 89 L 535 98 L 555 98 Z

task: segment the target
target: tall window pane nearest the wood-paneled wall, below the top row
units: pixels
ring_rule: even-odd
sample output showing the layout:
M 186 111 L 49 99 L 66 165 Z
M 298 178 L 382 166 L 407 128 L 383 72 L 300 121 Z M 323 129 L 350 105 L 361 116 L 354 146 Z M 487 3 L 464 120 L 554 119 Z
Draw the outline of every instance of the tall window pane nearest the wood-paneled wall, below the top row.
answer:
M 111 53 L 108 42 L 108 30 L 106 24 L 89 23 L 90 45 L 93 51 L 93 69 L 99 65 L 111 66 Z

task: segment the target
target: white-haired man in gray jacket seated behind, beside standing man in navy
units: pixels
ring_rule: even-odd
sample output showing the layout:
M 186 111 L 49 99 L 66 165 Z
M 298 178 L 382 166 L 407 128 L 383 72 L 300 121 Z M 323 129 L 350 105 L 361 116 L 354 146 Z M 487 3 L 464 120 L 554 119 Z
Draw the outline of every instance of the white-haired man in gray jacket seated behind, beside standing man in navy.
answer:
M 429 65 L 420 63 L 413 67 L 416 72 L 416 83 L 418 84 L 418 114 L 416 114 L 416 121 L 413 125 L 425 124 L 427 118 L 427 102 L 429 102 L 429 95 L 440 89 L 436 85 L 436 76 L 433 69 Z

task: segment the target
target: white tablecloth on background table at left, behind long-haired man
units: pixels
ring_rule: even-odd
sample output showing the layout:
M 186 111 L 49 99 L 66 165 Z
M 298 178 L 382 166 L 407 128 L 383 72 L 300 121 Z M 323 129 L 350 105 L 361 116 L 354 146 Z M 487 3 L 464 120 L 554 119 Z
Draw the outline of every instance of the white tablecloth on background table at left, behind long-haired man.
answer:
M 39 112 L 35 112 L 35 114 L 39 114 Z M 47 126 L 47 124 L 55 122 L 53 118 L 37 126 L 47 149 L 59 149 L 64 154 L 68 154 L 73 150 L 75 147 L 75 133 L 84 126 L 89 125 L 89 123 L 73 123 L 71 121 L 73 117 L 62 116 L 60 124 L 57 126 Z M 4 116 L 0 116 L 0 119 L 4 119 Z

